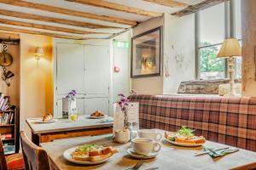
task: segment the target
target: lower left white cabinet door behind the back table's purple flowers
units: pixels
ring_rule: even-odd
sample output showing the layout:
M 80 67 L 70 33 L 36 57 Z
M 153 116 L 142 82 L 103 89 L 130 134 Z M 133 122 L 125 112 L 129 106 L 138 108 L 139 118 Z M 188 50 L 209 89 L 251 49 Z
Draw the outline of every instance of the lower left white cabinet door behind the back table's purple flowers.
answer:
M 77 111 L 80 115 L 84 115 L 84 99 L 77 98 Z M 62 99 L 57 99 L 57 114 L 55 117 L 62 117 Z

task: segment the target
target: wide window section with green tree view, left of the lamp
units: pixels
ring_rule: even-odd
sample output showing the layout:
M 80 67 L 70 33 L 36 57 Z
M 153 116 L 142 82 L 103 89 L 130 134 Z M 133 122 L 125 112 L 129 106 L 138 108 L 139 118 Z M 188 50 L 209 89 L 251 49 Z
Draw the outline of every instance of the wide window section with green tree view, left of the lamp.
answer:
M 225 37 L 224 3 L 201 10 L 199 15 L 200 78 L 224 78 L 224 59 L 216 58 Z

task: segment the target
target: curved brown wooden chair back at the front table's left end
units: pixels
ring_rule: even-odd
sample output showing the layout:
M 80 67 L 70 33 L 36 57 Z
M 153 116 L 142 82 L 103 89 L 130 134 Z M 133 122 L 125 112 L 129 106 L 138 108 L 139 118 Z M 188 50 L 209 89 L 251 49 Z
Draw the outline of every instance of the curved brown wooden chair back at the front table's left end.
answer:
M 49 157 L 46 151 L 33 144 L 23 131 L 20 132 L 20 140 L 26 170 L 50 170 Z

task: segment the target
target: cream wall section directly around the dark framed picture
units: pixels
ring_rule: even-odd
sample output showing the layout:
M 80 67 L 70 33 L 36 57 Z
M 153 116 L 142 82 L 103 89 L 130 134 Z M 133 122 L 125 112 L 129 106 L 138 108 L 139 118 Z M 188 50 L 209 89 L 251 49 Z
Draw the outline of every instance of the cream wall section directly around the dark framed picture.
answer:
M 147 20 L 133 29 L 132 36 L 164 26 L 164 21 L 164 17 Z M 163 77 L 132 78 L 131 88 L 136 90 L 138 94 L 163 94 Z

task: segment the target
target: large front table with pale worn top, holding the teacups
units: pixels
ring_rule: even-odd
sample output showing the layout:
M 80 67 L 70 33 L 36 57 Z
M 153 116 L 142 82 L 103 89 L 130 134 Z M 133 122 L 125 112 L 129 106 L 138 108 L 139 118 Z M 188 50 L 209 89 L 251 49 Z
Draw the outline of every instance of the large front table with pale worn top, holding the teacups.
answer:
M 160 131 L 163 133 L 163 131 Z M 96 166 L 83 166 L 73 164 L 66 161 L 62 156 L 63 152 L 73 146 L 80 144 L 93 143 L 102 144 L 105 146 L 113 146 L 119 150 L 119 153 L 114 155 L 110 161 Z M 195 152 L 201 151 L 202 147 L 185 148 L 166 143 L 163 139 L 161 141 L 162 148 L 160 154 L 155 159 L 146 160 L 141 170 L 149 167 L 159 167 L 160 170 L 198 170 L 198 169 L 230 169 L 234 167 L 244 166 L 256 161 L 256 153 L 248 150 L 239 150 L 236 153 L 224 156 L 220 159 L 213 160 L 210 156 L 195 156 Z M 99 169 L 99 170 L 121 170 L 134 166 L 139 160 L 127 156 L 126 150 L 131 147 L 128 144 L 116 144 L 112 141 L 112 135 L 105 134 L 95 137 L 79 137 L 73 139 L 60 139 L 51 143 L 41 144 L 44 150 L 49 154 L 49 159 L 56 170 L 85 170 L 85 169 Z M 207 141 L 204 144 L 206 147 L 221 148 L 226 145 Z M 256 167 L 255 164 L 252 166 Z M 241 168 L 240 168 L 241 169 Z

